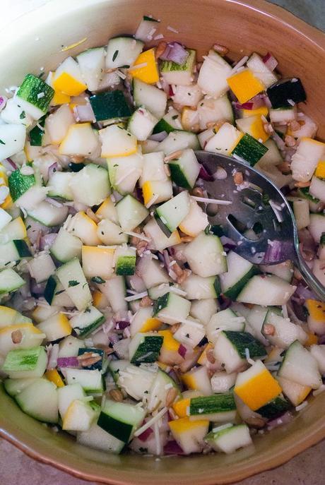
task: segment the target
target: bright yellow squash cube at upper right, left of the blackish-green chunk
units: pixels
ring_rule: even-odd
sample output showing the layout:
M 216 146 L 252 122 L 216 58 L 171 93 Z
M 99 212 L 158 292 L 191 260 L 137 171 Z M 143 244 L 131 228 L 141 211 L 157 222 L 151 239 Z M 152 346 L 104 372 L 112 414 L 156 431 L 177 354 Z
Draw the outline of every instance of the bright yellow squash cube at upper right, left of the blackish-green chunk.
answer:
M 227 81 L 230 89 L 240 103 L 251 100 L 252 97 L 265 90 L 265 86 L 249 69 L 235 73 Z

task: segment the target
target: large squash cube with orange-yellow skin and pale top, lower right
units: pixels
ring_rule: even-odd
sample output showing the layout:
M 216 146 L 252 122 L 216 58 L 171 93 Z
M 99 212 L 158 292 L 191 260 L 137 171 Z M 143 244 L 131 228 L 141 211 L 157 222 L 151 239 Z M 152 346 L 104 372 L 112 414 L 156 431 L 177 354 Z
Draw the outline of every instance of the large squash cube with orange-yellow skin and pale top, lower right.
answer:
M 257 372 L 254 373 L 254 375 L 253 368 L 257 369 Z M 248 378 L 247 381 L 238 385 L 237 377 L 234 392 L 242 401 L 244 401 L 245 405 L 252 409 L 252 411 L 256 411 L 256 409 L 266 405 L 281 393 L 282 389 L 280 388 L 278 381 L 273 378 L 271 372 L 266 369 L 261 361 L 256 361 L 250 369 L 238 374 L 240 379 L 242 379 L 242 376 L 245 373 L 249 373 L 247 375 L 252 375 L 252 378 Z

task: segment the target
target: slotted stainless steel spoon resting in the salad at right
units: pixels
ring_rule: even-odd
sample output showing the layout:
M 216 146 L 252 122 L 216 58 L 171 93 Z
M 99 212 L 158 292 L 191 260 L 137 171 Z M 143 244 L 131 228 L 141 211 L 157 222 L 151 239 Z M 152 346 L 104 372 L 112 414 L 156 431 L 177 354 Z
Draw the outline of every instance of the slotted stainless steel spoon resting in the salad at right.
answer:
M 207 191 L 208 198 L 223 201 L 218 210 L 210 210 L 209 205 L 206 210 L 209 222 L 220 226 L 223 234 L 236 243 L 234 251 L 255 264 L 293 261 L 317 297 L 325 300 L 325 287 L 302 258 L 295 216 L 280 189 L 240 160 L 203 151 L 197 151 L 196 157 L 208 174 L 215 174 L 218 167 L 225 171 L 219 169 L 221 178 L 203 180 L 203 189 Z M 235 184 L 235 172 L 243 174 L 244 182 L 240 185 Z M 252 239 L 249 229 L 256 234 Z

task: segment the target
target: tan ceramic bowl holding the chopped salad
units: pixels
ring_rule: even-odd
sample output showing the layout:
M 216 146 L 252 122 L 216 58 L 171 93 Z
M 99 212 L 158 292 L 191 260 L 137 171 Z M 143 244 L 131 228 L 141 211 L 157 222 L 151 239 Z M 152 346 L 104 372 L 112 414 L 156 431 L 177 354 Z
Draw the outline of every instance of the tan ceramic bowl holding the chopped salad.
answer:
M 26 72 L 55 68 L 68 54 L 134 32 L 143 14 L 152 14 L 179 34 L 162 29 L 199 54 L 214 42 L 237 52 L 271 51 L 284 76 L 302 78 L 306 112 L 321 126 L 325 107 L 325 36 L 290 13 L 263 0 L 55 0 L 0 32 L 0 91 L 18 84 Z M 87 40 L 68 53 L 61 46 Z M 40 40 L 35 40 L 39 37 Z M 240 55 L 238 55 L 240 53 Z M 319 128 L 325 138 L 325 125 Z M 216 485 L 276 467 L 325 437 L 325 393 L 287 426 L 257 436 L 254 447 L 233 455 L 154 457 L 108 455 L 78 445 L 20 412 L 0 386 L 0 434 L 25 453 L 66 472 L 105 484 Z

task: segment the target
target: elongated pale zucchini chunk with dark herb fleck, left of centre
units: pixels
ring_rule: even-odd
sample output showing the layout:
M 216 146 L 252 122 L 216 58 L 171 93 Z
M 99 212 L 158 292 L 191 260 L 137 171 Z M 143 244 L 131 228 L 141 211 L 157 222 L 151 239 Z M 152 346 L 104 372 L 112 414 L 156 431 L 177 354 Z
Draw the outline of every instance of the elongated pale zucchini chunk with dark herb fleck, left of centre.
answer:
M 71 259 L 57 269 L 57 277 L 78 310 L 85 310 L 92 297 L 81 264 L 77 258 Z

